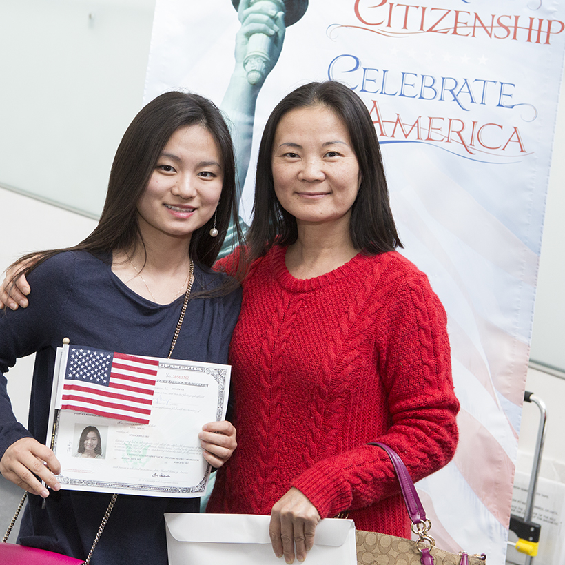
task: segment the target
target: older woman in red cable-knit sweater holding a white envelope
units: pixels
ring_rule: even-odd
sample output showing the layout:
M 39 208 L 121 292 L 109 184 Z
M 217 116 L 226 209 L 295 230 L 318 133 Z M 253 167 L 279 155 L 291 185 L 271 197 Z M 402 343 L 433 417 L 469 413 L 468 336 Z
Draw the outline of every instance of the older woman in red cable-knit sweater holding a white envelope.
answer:
M 208 511 L 271 513 L 288 563 L 342 511 L 409 537 L 391 463 L 367 442 L 391 446 L 420 480 L 452 458 L 459 404 L 444 309 L 394 251 L 375 128 L 349 88 L 311 83 L 276 106 L 254 211 L 230 349 L 238 449 Z

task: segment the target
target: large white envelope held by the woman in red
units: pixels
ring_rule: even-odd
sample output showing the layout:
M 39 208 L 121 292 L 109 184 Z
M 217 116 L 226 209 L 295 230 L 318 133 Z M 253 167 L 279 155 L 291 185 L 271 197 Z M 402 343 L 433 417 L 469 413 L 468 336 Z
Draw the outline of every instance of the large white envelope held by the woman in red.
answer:
M 271 547 L 270 520 L 249 514 L 165 514 L 169 565 L 284 564 Z M 353 520 L 322 520 L 305 564 L 356 563 Z

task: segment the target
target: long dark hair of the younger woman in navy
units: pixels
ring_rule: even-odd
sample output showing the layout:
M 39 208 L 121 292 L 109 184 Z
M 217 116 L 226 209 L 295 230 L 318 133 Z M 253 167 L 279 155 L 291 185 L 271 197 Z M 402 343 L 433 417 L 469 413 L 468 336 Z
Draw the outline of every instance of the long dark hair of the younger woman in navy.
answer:
M 223 187 L 217 207 L 218 236 L 209 232 L 214 216 L 192 233 L 189 255 L 195 263 L 212 267 L 222 247 L 230 222 L 236 226 L 236 243 L 242 239 L 236 206 L 236 167 L 229 129 L 212 101 L 198 94 L 167 92 L 157 96 L 135 116 L 116 151 L 104 209 L 94 231 L 81 243 L 64 249 L 51 249 L 28 254 L 17 260 L 19 265 L 27 258 L 34 263 L 19 269 L 28 274 L 44 260 L 62 251 L 90 251 L 101 254 L 114 250 L 136 249 L 143 244 L 139 231 L 137 205 L 147 188 L 150 177 L 163 148 L 179 127 L 201 125 L 214 138 L 222 156 Z

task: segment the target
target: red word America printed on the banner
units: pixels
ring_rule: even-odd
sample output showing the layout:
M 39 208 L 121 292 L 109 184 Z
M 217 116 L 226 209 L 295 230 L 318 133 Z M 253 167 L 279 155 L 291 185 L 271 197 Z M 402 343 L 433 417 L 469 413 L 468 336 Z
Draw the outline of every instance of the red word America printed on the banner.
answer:
M 417 116 L 403 119 L 398 112 L 385 115 L 376 100 L 369 113 L 381 143 L 383 138 L 394 141 L 441 145 L 462 156 L 477 154 L 515 158 L 528 154 L 520 130 L 499 123 L 471 123 L 444 116 Z

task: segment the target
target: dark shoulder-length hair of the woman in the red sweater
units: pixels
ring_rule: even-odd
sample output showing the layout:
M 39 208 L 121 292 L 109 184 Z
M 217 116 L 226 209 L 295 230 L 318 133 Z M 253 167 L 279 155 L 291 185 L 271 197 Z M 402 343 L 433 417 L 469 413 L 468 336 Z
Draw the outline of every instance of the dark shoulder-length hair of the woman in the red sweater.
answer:
M 351 209 L 349 225 L 353 246 L 366 254 L 402 247 L 389 203 L 375 125 L 369 111 L 347 86 L 327 81 L 300 86 L 276 105 L 267 120 L 257 161 L 254 217 L 247 232 L 250 260 L 265 255 L 275 244 L 291 245 L 298 238 L 296 218 L 276 198 L 271 165 L 273 145 L 278 123 L 287 112 L 316 105 L 329 108 L 345 123 L 359 164 L 361 185 Z

